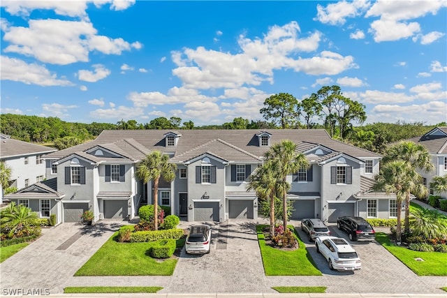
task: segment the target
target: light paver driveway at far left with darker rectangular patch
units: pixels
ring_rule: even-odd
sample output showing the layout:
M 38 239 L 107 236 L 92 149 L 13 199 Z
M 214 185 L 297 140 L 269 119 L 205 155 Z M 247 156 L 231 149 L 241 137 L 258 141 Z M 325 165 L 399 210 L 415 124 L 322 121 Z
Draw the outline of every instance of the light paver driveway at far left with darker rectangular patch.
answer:
M 14 289 L 48 289 L 61 293 L 64 281 L 119 229 L 122 222 L 96 225 L 62 223 L 45 229 L 43 235 L 0 265 L 1 294 Z

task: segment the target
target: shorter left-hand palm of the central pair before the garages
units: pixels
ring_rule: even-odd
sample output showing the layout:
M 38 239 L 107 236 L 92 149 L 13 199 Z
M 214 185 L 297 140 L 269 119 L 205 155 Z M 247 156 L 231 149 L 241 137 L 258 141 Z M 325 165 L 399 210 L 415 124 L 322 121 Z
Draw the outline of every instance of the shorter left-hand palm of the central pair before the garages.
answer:
M 274 200 L 277 198 L 277 178 L 275 177 L 274 164 L 264 163 L 251 174 L 247 191 L 255 191 L 258 198 L 270 203 L 270 236 L 274 237 Z

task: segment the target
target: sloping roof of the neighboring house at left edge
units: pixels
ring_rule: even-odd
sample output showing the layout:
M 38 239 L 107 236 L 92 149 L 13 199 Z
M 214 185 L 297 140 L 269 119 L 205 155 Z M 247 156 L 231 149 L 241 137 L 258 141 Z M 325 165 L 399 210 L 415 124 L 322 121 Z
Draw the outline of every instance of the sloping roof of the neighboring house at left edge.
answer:
M 0 139 L 0 158 L 48 154 L 57 149 L 10 138 Z

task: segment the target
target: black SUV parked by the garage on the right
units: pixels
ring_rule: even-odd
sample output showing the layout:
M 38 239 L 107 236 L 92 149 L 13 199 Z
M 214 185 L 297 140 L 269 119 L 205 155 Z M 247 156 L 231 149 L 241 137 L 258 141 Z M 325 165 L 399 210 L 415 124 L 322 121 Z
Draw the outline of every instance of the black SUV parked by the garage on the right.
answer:
M 348 233 L 349 240 L 374 240 L 376 232 L 365 218 L 342 216 L 337 218 L 337 227 Z

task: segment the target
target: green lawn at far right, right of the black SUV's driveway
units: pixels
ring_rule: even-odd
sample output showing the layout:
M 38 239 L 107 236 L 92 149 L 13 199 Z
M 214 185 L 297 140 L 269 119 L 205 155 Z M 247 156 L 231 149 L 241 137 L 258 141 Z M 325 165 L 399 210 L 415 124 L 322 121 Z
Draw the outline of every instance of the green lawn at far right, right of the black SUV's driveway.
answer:
M 447 276 L 447 253 L 411 251 L 392 244 L 388 235 L 382 232 L 376 232 L 376 240 L 418 276 Z M 415 258 L 422 258 L 424 262 Z

